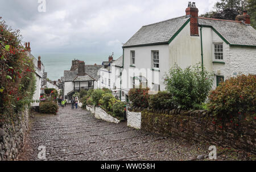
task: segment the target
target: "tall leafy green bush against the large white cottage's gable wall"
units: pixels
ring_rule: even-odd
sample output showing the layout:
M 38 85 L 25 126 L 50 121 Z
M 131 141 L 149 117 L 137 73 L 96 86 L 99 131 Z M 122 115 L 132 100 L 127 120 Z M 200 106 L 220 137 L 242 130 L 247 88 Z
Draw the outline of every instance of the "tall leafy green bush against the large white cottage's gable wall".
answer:
M 175 104 L 182 109 L 198 109 L 212 88 L 213 75 L 197 65 L 182 70 L 175 65 L 166 75 L 164 83 Z

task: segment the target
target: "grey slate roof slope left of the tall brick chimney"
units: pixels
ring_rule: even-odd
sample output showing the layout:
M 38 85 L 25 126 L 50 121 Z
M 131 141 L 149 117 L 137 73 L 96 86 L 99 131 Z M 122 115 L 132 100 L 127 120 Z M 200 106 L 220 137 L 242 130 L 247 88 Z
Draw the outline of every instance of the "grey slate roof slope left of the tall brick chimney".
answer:
M 179 18 L 144 25 L 123 45 L 123 47 L 167 43 L 187 20 L 188 18 L 186 18 L 186 16 L 181 16 Z

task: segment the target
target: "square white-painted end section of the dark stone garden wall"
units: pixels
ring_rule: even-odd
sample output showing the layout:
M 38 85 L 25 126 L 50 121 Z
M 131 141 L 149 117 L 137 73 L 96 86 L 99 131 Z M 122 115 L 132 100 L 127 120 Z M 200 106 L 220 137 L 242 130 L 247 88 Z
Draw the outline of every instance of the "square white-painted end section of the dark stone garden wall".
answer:
M 141 129 L 141 112 L 127 110 L 127 126 Z

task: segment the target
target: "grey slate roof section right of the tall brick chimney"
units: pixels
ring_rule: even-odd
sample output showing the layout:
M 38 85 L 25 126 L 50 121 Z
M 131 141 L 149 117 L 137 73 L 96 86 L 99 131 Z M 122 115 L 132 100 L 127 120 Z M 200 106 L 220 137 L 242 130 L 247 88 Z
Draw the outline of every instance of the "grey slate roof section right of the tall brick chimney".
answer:
M 240 22 L 199 18 L 199 24 L 212 26 L 230 44 L 256 45 L 256 31 Z

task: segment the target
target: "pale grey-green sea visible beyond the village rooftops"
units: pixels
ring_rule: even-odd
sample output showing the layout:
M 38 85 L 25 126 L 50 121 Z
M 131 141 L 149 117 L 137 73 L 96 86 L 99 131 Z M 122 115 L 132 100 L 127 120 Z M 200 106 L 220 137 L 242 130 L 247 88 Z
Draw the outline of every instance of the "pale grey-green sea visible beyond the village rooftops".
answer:
M 47 78 L 58 80 L 64 76 L 64 70 L 70 70 L 73 59 L 84 61 L 85 65 L 101 65 L 102 61 L 108 61 L 106 55 L 85 55 L 85 54 L 32 54 L 36 59 L 40 55 L 44 65 L 44 72 L 47 72 Z M 105 57 L 105 58 L 104 58 Z M 120 57 L 120 56 L 118 56 Z M 118 58 L 114 55 L 114 59 Z

